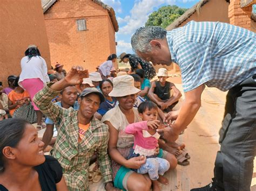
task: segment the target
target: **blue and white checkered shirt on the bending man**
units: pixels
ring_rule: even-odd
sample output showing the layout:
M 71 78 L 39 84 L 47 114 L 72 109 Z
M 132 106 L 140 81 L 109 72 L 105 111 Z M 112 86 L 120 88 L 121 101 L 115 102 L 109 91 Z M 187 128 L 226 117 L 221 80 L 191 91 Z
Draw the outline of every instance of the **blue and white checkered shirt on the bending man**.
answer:
M 255 33 L 219 22 L 189 22 L 168 31 L 184 91 L 206 84 L 226 91 L 256 74 Z

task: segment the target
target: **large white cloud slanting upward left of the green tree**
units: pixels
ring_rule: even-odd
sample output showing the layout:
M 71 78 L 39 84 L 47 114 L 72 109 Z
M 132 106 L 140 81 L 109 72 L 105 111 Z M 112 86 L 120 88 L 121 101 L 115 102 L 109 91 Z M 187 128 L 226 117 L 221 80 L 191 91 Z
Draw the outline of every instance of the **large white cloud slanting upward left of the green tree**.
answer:
M 183 0 L 184 1 L 184 0 Z M 186 0 L 185 0 L 186 1 Z M 121 22 L 127 22 L 127 24 L 119 29 L 119 34 L 132 34 L 140 26 L 144 26 L 149 14 L 154 8 L 161 4 L 168 3 L 173 4 L 175 0 L 139 0 L 133 5 L 130 11 L 130 17 L 119 18 Z M 129 20 L 128 20 L 129 19 Z M 127 21 L 128 20 L 128 21 Z

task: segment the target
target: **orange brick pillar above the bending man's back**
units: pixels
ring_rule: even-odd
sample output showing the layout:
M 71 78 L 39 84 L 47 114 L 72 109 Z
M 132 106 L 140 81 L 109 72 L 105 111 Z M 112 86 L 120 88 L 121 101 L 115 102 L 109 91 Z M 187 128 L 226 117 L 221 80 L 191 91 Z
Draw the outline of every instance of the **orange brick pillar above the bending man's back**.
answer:
M 251 13 L 252 5 L 246 8 L 240 7 L 241 0 L 231 0 L 228 6 L 228 17 L 230 18 L 230 24 L 244 27 L 251 30 Z

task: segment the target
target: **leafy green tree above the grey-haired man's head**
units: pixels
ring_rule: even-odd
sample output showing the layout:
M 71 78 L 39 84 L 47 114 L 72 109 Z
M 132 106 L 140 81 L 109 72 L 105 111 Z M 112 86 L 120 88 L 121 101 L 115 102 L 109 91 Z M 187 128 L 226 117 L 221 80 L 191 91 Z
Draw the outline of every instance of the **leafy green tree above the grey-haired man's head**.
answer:
M 161 26 L 165 28 L 175 19 L 183 15 L 186 10 L 187 9 L 179 8 L 176 5 L 162 6 L 149 15 L 149 19 L 147 19 L 145 26 Z

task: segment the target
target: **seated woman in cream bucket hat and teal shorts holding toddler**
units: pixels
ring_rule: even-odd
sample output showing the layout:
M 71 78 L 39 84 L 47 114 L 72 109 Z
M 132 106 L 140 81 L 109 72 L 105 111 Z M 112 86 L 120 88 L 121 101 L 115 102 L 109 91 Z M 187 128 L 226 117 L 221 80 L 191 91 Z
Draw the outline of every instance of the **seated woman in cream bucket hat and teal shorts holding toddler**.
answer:
M 140 168 L 146 162 L 146 158 L 139 156 L 127 160 L 133 146 L 133 135 L 127 135 L 125 128 L 131 123 L 141 121 L 137 108 L 133 108 L 136 94 L 140 90 L 134 87 L 134 80 L 130 75 L 115 77 L 113 84 L 113 90 L 109 96 L 116 97 L 119 104 L 106 112 L 102 122 L 109 125 L 108 150 L 112 159 L 114 187 L 126 190 L 150 190 L 150 178 L 130 169 Z M 161 150 L 158 157 L 168 160 L 170 169 L 176 168 L 177 159 L 172 154 Z M 158 186 L 153 185 L 153 189 L 156 187 L 158 188 Z

